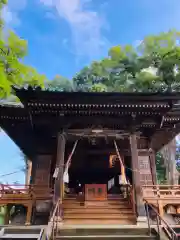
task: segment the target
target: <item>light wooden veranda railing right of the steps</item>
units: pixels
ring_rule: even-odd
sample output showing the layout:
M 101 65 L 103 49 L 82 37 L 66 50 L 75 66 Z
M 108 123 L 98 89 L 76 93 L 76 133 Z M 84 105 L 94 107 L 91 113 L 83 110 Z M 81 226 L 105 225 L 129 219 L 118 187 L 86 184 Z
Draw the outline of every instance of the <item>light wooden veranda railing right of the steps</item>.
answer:
M 180 200 L 180 185 L 147 185 L 142 186 L 144 199 Z

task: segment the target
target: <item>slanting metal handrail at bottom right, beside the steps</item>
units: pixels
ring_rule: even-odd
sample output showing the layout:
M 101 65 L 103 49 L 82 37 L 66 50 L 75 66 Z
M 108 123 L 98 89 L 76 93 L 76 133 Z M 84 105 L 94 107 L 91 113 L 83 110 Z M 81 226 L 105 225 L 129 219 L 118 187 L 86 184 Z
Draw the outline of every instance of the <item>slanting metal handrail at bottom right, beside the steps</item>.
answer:
M 146 215 L 148 220 L 149 235 L 151 235 L 151 223 L 150 223 L 148 206 L 156 214 L 159 239 L 160 239 L 160 226 L 162 225 L 161 223 L 164 223 L 165 226 L 163 227 L 166 230 L 166 233 L 168 234 L 169 238 L 172 240 L 178 240 L 178 236 L 180 236 L 180 234 L 177 234 L 174 231 L 174 229 L 159 215 L 158 211 L 150 203 L 148 203 L 147 200 L 144 199 L 144 201 L 145 201 L 145 210 L 146 210 Z

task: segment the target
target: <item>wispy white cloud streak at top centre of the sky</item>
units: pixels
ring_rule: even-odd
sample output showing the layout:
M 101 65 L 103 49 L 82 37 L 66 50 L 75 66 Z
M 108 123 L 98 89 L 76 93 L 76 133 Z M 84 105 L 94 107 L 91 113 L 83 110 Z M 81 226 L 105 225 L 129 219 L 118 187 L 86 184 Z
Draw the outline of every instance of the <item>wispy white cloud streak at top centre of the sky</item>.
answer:
M 107 46 L 102 34 L 104 20 L 97 11 L 88 10 L 90 0 L 40 0 L 46 6 L 57 10 L 71 29 L 75 54 L 93 58 Z

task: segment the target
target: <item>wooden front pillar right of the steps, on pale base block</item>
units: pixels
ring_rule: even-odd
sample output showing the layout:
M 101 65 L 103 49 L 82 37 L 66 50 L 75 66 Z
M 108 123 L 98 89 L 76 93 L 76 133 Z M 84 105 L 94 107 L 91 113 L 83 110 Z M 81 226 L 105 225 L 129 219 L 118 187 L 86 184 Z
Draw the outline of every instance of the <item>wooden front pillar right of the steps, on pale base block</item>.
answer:
M 132 175 L 133 175 L 133 187 L 135 192 L 136 200 L 136 212 L 137 222 L 146 222 L 146 212 L 143 204 L 141 182 L 140 182 L 140 168 L 138 162 L 138 148 L 137 148 L 137 137 L 135 133 L 130 135 L 130 147 L 131 147 L 131 162 L 132 162 Z

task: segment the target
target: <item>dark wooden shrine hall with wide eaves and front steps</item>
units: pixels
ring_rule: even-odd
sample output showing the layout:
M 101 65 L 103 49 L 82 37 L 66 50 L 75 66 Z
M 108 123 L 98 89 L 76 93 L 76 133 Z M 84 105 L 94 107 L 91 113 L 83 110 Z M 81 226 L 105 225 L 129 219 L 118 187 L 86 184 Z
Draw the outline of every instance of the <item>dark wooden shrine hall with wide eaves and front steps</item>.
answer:
M 21 105 L 1 105 L 0 126 L 32 161 L 32 206 L 58 202 L 67 223 L 146 219 L 144 200 L 157 200 L 155 153 L 180 132 L 179 93 L 15 92 Z M 41 186 L 51 195 L 37 197 Z M 168 197 L 180 205 L 178 193 Z

